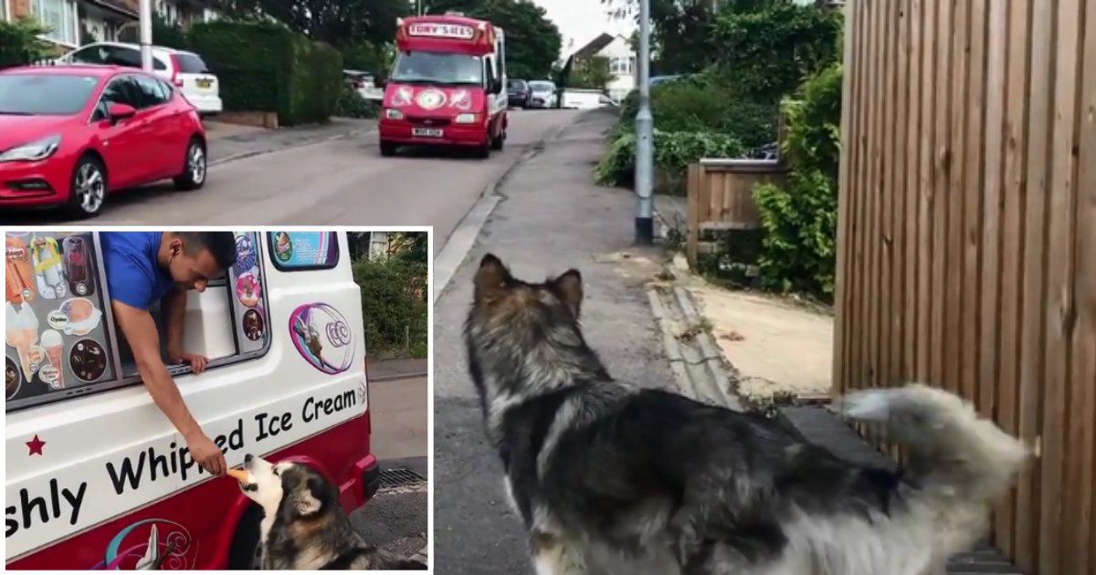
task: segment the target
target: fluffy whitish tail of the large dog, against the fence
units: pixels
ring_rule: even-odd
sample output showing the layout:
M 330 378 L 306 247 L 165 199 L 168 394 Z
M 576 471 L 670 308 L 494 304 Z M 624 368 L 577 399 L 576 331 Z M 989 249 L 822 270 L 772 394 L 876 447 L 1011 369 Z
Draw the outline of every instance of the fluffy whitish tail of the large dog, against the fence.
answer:
M 947 391 L 913 383 L 849 393 L 840 403 L 848 417 L 884 425 L 906 447 L 909 476 L 946 497 L 987 501 L 1007 490 L 1030 456 L 1019 439 L 973 405 Z

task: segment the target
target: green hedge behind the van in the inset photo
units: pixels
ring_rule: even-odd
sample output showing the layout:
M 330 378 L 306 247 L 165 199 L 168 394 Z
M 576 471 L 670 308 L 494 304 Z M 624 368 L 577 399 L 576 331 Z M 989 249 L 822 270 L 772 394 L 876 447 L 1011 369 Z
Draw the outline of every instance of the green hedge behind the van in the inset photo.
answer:
M 400 258 L 354 263 L 370 356 L 426 357 L 426 265 Z M 410 341 L 408 335 L 410 333 Z

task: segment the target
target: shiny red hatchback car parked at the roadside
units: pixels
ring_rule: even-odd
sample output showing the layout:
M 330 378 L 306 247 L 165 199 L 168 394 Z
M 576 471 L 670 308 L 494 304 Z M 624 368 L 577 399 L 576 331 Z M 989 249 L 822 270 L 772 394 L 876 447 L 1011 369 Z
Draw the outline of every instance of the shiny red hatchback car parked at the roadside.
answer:
M 75 217 L 111 192 L 206 180 L 198 113 L 173 85 L 99 65 L 0 70 L 0 210 L 60 206 Z

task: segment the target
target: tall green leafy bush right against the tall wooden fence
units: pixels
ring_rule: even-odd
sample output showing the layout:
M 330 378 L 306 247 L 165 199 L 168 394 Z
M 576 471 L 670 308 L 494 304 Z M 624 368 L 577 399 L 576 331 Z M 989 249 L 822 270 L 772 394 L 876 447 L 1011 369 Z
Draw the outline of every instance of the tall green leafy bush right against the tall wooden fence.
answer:
M 754 189 L 765 230 L 762 285 L 825 301 L 833 300 L 836 266 L 841 88 L 840 64 L 803 83 L 800 100 L 786 104 L 788 186 Z

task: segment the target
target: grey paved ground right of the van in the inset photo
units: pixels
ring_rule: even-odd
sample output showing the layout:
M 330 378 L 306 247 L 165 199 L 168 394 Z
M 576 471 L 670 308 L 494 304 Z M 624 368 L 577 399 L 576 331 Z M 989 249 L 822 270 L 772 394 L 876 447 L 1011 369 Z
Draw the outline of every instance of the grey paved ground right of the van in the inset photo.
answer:
M 380 363 L 385 364 L 385 363 Z M 369 414 L 373 453 L 381 470 L 411 470 L 422 478 L 400 485 L 383 484 L 368 503 L 351 514 L 351 522 L 362 538 L 406 556 L 429 555 L 430 509 L 430 389 L 427 379 L 399 368 L 414 364 L 385 366 L 392 377 L 369 382 Z M 369 366 L 370 373 L 376 369 Z M 420 557 L 423 559 L 423 557 Z

